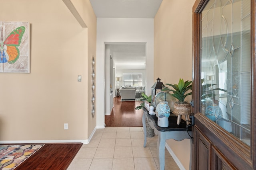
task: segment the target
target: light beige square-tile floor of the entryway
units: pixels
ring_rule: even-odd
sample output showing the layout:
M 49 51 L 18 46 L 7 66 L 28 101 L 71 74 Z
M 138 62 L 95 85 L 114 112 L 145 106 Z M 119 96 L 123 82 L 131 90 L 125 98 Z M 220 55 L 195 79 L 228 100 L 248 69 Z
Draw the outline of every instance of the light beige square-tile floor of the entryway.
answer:
M 78 151 L 68 170 L 159 170 L 157 138 L 147 138 L 144 148 L 143 127 L 97 129 L 90 143 Z M 168 150 L 165 169 L 179 170 Z

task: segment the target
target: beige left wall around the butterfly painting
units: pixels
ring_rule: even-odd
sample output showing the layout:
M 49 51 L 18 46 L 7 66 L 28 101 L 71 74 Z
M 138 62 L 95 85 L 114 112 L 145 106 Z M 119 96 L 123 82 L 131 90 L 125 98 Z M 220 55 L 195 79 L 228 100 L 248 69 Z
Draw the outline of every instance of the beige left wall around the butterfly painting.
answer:
M 96 17 L 89 0 L 82 3 L 88 28 L 61 0 L 0 0 L 0 21 L 31 24 L 31 73 L 0 73 L 0 141 L 86 140 L 96 127 L 90 115 Z

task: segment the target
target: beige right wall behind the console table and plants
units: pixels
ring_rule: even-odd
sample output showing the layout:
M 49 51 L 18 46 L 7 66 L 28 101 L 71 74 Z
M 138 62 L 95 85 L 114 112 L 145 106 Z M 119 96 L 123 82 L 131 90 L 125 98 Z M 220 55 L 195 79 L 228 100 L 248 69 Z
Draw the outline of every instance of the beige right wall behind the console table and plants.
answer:
M 192 80 L 192 6 L 195 0 L 163 0 L 154 18 L 154 79 Z M 190 99 L 188 98 L 188 101 Z M 167 141 L 186 170 L 190 141 Z

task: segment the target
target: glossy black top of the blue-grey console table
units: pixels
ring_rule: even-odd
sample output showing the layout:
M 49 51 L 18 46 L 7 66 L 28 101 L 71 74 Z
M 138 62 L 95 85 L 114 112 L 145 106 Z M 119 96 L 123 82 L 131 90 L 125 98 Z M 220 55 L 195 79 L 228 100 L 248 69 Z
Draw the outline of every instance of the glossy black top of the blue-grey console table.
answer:
M 177 116 L 173 113 L 170 114 L 169 119 L 169 126 L 168 127 L 160 127 L 157 125 L 158 117 L 156 115 L 150 115 L 148 114 L 148 110 L 143 107 L 143 111 L 146 112 L 147 117 L 154 122 L 154 126 L 158 131 L 186 131 L 187 130 L 187 124 L 186 121 L 181 119 L 180 125 L 177 125 Z M 188 129 L 191 131 L 191 128 Z

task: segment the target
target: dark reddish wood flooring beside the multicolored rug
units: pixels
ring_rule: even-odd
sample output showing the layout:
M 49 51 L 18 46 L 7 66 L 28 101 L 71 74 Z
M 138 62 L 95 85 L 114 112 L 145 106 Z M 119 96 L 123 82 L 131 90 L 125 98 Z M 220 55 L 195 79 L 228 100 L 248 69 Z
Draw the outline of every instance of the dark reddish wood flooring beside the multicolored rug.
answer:
M 45 144 L 15 170 L 66 170 L 82 143 Z

